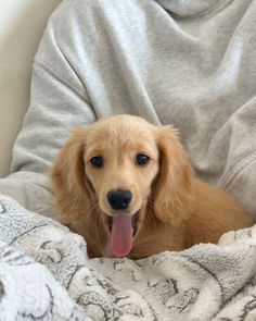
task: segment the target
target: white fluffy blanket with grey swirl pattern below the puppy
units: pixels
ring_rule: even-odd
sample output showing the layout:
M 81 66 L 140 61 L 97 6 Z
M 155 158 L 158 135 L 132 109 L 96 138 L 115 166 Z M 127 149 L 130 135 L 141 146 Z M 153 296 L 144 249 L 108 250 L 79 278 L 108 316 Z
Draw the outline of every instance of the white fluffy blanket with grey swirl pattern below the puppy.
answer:
M 80 236 L 0 195 L 0 320 L 256 320 L 256 227 L 90 260 Z

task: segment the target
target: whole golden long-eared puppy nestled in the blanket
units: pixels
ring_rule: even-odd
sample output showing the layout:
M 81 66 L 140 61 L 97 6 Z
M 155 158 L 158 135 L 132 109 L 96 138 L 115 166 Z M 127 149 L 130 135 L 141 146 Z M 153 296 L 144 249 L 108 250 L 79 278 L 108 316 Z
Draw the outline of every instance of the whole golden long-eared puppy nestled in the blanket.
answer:
M 175 129 L 138 116 L 76 129 L 51 177 L 63 222 L 90 257 L 138 259 L 252 225 L 232 197 L 195 178 Z

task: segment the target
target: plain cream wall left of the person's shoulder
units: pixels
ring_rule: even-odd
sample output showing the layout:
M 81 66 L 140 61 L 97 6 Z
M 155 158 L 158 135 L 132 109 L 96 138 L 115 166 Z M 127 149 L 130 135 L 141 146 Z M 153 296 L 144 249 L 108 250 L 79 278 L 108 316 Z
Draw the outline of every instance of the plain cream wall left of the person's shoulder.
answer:
M 29 104 L 31 64 L 49 15 L 61 0 L 0 1 L 0 177 Z

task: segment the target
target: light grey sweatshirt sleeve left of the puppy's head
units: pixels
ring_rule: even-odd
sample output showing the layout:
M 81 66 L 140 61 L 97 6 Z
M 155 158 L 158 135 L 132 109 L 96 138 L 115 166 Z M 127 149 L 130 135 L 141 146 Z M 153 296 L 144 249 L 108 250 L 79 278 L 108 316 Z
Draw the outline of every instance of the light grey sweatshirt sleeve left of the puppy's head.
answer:
M 0 180 L 0 193 L 31 211 L 52 215 L 49 168 L 69 132 L 94 120 L 86 88 L 49 24 L 35 58 L 30 106 L 14 144 L 11 174 Z

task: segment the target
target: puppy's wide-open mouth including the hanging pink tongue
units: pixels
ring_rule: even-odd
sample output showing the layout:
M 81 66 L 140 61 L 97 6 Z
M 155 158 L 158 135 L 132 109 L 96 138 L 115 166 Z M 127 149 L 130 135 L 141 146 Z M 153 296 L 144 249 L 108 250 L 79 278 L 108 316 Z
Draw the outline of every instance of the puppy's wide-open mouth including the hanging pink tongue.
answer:
M 133 238 L 138 233 L 140 211 L 133 215 L 116 213 L 107 215 L 107 225 L 111 233 L 111 247 L 115 257 L 126 257 L 133 245 Z

